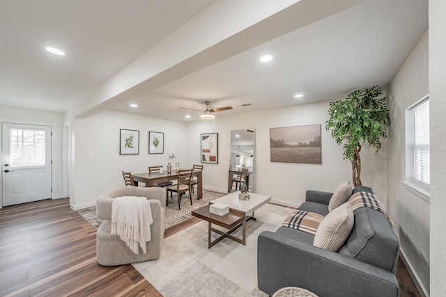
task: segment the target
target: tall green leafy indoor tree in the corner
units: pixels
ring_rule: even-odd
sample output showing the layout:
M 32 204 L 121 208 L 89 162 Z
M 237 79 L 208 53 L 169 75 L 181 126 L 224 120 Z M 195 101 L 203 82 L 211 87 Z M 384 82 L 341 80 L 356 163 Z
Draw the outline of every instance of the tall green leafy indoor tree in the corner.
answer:
M 344 159 L 351 161 L 353 185 L 360 186 L 362 144 L 367 142 L 378 152 L 381 139 L 387 138 L 390 115 L 386 97 L 379 86 L 355 90 L 344 100 L 330 102 L 328 114 L 325 128 L 331 129 L 334 140 L 344 146 Z

